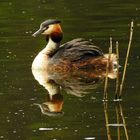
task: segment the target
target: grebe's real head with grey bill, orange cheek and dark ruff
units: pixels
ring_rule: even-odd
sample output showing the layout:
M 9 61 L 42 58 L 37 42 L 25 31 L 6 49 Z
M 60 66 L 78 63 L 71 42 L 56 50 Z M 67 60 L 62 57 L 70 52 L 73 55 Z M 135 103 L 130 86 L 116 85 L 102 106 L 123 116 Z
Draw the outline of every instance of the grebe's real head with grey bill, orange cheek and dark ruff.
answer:
M 48 37 L 51 37 L 51 39 L 58 43 L 62 40 L 63 33 L 60 26 L 61 21 L 56 19 L 48 19 L 40 24 L 40 28 L 38 31 L 36 31 L 33 36 L 36 37 L 39 34 L 43 34 Z

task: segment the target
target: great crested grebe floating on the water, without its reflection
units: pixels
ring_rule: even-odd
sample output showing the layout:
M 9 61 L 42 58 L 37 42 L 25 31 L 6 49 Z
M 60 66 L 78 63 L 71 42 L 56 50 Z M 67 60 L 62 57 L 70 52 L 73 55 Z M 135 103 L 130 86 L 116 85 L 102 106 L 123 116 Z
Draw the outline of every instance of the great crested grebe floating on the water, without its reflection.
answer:
M 48 43 L 33 61 L 33 74 L 35 70 L 51 72 L 79 69 L 106 70 L 108 54 L 103 54 L 101 49 L 94 46 L 92 42 L 78 38 L 60 45 L 63 32 L 59 20 L 49 19 L 41 23 L 39 30 L 33 36 L 36 37 L 39 34 L 46 36 Z M 108 73 L 110 78 L 115 78 L 112 74 L 115 69 L 114 65 L 116 65 L 116 55 L 111 54 Z

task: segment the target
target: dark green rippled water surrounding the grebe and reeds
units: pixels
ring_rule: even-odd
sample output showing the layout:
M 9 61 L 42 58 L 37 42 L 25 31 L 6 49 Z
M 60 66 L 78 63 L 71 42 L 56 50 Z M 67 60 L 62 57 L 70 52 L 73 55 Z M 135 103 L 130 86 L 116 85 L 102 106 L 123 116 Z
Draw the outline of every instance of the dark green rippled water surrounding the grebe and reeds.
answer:
M 130 22 L 134 36 L 127 77 L 123 89 L 123 110 L 128 137 L 140 139 L 140 1 L 139 0 L 1 0 L 0 1 L 0 139 L 4 140 L 109 140 L 109 123 L 117 123 L 114 99 L 115 81 L 109 81 L 108 108 L 102 102 L 103 83 L 79 98 L 62 90 L 62 117 L 43 115 L 33 103 L 42 103 L 47 91 L 31 72 L 36 54 L 45 45 L 42 37 L 31 35 L 49 18 L 62 21 L 63 43 L 73 38 L 93 39 L 104 52 L 109 37 L 119 41 L 123 66 L 129 39 Z M 123 70 L 123 67 L 120 68 Z M 85 88 L 85 87 L 83 87 Z M 121 122 L 122 123 L 122 122 Z M 46 130 L 42 130 L 45 128 Z M 118 140 L 118 127 L 111 126 L 112 140 Z M 121 140 L 125 131 L 120 127 Z

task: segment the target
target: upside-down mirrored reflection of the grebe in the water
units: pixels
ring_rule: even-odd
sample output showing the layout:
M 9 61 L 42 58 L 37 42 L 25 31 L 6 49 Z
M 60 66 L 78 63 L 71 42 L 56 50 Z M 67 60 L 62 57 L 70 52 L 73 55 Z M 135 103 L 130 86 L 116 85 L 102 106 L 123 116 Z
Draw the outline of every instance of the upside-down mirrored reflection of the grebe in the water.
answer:
M 47 90 L 46 101 L 39 106 L 41 112 L 48 116 L 61 116 L 63 107 L 63 95 L 62 90 L 65 90 L 68 94 L 75 95 L 77 97 L 83 97 L 84 95 L 91 93 L 92 89 L 96 89 L 103 83 L 105 77 L 104 71 L 91 71 L 77 70 L 73 72 L 64 71 L 46 71 L 46 70 L 32 70 L 35 79 Z

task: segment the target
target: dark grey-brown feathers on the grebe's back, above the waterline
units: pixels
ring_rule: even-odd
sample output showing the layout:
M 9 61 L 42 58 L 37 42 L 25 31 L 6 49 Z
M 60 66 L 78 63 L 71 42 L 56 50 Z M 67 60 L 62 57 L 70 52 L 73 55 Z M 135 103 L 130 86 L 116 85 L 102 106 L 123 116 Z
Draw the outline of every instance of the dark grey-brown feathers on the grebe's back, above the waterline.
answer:
M 94 46 L 93 43 L 78 38 L 61 45 L 52 56 L 52 59 L 53 61 L 59 61 L 61 59 L 76 62 L 102 55 L 101 49 Z

